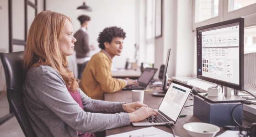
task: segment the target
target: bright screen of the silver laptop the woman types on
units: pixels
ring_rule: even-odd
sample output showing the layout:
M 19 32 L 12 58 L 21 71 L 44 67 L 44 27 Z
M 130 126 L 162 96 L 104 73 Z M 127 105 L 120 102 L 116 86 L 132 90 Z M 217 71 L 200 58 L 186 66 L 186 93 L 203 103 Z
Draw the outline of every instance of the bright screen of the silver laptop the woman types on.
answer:
M 176 121 L 186 103 L 190 91 L 191 89 L 187 87 L 171 83 L 158 110 Z

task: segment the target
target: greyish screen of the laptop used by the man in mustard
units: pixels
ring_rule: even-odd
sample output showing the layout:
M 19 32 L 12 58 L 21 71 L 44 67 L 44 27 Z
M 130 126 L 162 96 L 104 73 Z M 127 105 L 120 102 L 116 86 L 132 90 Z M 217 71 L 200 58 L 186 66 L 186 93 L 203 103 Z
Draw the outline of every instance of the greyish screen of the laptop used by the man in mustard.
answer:
M 156 68 L 145 68 L 144 72 L 141 74 L 141 76 L 138 79 L 139 85 L 146 87 L 149 84 L 149 81 L 155 75 L 156 71 L 157 71 Z

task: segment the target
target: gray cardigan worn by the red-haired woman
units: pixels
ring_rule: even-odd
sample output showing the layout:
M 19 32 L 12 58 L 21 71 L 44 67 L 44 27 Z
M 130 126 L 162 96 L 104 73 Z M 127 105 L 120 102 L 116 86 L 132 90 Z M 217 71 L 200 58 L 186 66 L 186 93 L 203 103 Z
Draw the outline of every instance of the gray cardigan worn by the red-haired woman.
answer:
M 77 137 L 130 124 L 123 103 L 89 98 L 79 89 L 84 110 L 69 94 L 60 74 L 49 66 L 31 68 L 23 85 L 23 100 L 38 137 Z

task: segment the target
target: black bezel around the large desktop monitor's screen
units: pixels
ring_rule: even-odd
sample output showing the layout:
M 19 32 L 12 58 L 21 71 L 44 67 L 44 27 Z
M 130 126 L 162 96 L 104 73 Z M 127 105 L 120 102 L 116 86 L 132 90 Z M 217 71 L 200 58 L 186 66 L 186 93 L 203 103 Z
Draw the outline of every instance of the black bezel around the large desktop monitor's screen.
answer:
M 216 26 L 223 26 L 223 25 L 236 23 L 236 22 L 239 22 L 239 34 L 240 34 L 239 35 L 239 72 L 240 72 L 239 85 L 198 75 L 198 55 L 197 55 L 197 78 L 198 79 L 203 79 L 203 80 L 215 83 L 215 84 L 220 84 L 220 85 L 223 85 L 223 86 L 226 86 L 229 88 L 233 88 L 235 90 L 244 90 L 244 17 L 240 17 L 237 19 L 229 20 L 229 21 L 214 23 L 214 24 L 207 25 L 207 26 L 197 27 L 196 34 L 198 35 L 198 31 L 203 30 L 203 29 L 212 28 L 212 27 L 216 27 Z M 197 37 L 197 41 L 198 41 L 198 37 Z M 198 42 L 197 42 L 197 53 L 198 53 Z

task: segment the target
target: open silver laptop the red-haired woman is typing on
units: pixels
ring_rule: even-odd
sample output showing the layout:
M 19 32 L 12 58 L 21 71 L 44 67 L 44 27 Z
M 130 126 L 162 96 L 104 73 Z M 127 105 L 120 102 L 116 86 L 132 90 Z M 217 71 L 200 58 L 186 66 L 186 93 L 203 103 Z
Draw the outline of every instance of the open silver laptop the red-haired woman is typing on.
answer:
M 133 126 L 156 126 L 165 125 L 166 123 L 175 124 L 192 89 L 192 86 L 173 80 L 158 110 L 156 110 L 159 112 L 159 115 L 157 117 L 149 116 L 139 122 L 132 122 Z

